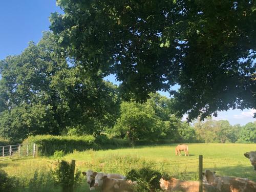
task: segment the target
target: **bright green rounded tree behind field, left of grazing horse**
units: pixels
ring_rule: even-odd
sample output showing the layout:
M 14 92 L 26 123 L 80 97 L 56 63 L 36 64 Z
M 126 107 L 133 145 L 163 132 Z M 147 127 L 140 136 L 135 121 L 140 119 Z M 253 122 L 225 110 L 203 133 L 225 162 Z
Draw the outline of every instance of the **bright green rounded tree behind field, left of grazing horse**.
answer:
M 122 102 L 120 118 L 110 134 L 127 138 L 132 144 L 174 139 L 179 119 L 171 114 L 172 100 L 159 94 L 151 96 L 145 103 Z

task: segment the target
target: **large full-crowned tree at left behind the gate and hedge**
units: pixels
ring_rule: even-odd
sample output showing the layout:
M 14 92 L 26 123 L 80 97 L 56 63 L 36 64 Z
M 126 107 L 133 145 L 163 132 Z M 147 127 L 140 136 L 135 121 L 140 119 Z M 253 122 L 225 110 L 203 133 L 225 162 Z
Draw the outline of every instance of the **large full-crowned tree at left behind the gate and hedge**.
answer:
M 0 135 L 11 140 L 28 135 L 67 132 L 98 134 L 119 114 L 117 87 L 93 79 L 79 62 L 59 54 L 46 32 L 17 56 L 0 61 Z

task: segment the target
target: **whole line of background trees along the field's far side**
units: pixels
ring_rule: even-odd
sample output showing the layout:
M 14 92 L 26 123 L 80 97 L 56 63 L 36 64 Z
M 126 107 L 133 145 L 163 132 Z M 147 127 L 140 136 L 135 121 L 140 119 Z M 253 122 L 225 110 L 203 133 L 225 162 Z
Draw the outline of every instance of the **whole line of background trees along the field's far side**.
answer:
M 152 93 L 143 103 L 123 100 L 118 86 L 94 78 L 82 65 L 59 50 L 51 32 L 22 54 L 0 61 L 1 142 L 102 134 L 130 144 L 256 142 L 256 123 L 231 126 L 208 118 L 187 124 L 177 115 L 175 99 Z

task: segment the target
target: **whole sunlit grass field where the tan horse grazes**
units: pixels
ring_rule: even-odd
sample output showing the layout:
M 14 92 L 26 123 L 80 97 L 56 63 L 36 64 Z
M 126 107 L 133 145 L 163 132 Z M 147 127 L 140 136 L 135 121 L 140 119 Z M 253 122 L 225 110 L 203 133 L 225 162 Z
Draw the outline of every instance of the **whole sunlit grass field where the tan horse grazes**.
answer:
M 118 150 L 74 152 L 66 155 L 66 160 L 75 159 L 76 168 L 89 168 L 125 174 L 130 169 L 151 166 L 163 170 L 179 179 L 198 179 L 198 156 L 203 155 L 203 169 L 215 170 L 218 175 L 237 176 L 256 181 L 256 174 L 245 152 L 255 151 L 256 144 L 188 144 L 189 157 L 175 156 L 176 144 L 139 146 Z M 0 161 L 0 168 L 9 175 L 32 177 L 35 170 L 54 167 L 55 159 L 36 158 L 16 161 Z

